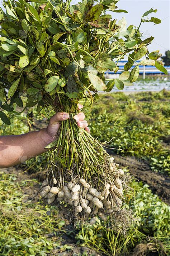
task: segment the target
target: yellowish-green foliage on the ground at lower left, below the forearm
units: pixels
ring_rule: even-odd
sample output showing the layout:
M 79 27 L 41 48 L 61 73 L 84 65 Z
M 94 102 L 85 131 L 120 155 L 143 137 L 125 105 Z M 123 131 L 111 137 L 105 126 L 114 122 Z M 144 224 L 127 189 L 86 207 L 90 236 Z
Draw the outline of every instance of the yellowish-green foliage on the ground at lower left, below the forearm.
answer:
M 36 180 L 18 180 L 17 175 L 0 173 L 0 255 L 42 255 L 54 248 L 65 251 L 60 237 L 48 238 L 49 233 L 60 232 L 65 221 L 48 206 L 32 202 L 28 195 Z M 28 197 L 31 199 L 28 200 Z

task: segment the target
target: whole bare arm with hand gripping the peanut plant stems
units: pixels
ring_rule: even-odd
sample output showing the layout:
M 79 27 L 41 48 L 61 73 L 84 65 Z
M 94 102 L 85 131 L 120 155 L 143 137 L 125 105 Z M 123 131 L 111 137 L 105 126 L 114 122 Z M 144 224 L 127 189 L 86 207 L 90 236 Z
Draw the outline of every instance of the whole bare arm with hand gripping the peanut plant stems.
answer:
M 82 108 L 82 105 L 79 108 Z M 48 127 L 45 129 L 21 135 L 0 136 L 0 168 L 19 164 L 46 152 L 47 149 L 44 149 L 44 147 L 52 142 L 60 127 L 60 121 L 68 118 L 69 114 L 58 112 L 52 116 Z M 88 123 L 84 120 L 84 113 L 80 112 L 74 118 L 80 128 L 85 128 L 89 132 Z

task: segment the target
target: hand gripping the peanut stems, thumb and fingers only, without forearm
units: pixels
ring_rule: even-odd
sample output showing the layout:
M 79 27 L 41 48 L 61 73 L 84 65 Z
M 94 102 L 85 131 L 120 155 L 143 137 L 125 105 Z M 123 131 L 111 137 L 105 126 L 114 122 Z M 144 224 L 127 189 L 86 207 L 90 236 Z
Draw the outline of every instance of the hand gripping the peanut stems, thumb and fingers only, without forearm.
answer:
M 83 105 L 78 104 L 78 109 L 80 110 L 82 108 Z M 69 114 L 66 112 L 58 112 L 57 114 L 53 115 L 49 120 L 48 127 L 46 128 L 47 136 L 53 139 L 60 127 L 60 121 L 64 121 L 67 119 L 69 119 Z M 85 115 L 83 112 L 79 112 L 79 114 L 75 115 L 74 119 L 76 120 L 77 125 L 80 128 L 85 128 L 87 132 L 90 132 L 88 122 L 85 120 Z

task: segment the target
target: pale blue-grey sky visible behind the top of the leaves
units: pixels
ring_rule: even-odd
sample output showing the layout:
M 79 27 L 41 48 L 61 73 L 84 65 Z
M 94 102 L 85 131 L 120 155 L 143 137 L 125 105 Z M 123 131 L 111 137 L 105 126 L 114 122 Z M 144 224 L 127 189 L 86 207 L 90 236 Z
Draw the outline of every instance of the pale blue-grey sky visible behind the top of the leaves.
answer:
M 76 4 L 79 1 L 81 0 L 72 0 L 72 3 Z M 1 0 L 0 6 L 3 7 Z M 149 14 L 148 17 L 157 17 L 162 22 L 158 25 L 154 25 L 153 22 L 142 23 L 140 28 L 143 32 L 142 39 L 144 40 L 150 36 L 155 37 L 151 45 L 148 46 L 150 52 L 159 49 L 164 55 L 166 50 L 170 50 L 170 0 L 120 0 L 117 6 L 118 9 L 127 10 L 128 13 L 110 12 L 112 18 L 121 19 L 125 17 L 128 25 L 136 26 L 139 25 L 143 13 L 151 8 L 157 9 L 156 13 Z

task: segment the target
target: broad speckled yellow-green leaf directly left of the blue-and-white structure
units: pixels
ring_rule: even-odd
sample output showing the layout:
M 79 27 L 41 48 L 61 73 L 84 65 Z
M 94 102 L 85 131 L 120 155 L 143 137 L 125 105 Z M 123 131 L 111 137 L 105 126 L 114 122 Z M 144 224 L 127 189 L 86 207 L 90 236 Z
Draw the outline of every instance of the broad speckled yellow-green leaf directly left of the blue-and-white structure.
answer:
M 102 53 L 99 55 L 99 57 L 96 58 L 96 68 L 99 71 L 106 71 L 108 69 L 114 69 L 115 68 L 115 63 L 112 61 L 110 58 L 109 54 L 107 53 Z

